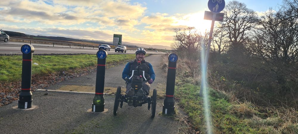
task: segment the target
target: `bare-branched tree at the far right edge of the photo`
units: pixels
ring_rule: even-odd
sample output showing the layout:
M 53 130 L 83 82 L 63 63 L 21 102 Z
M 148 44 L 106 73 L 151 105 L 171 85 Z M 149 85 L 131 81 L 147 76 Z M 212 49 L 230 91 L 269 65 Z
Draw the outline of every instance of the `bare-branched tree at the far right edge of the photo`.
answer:
M 287 80 L 298 80 L 297 12 L 285 4 L 279 11 L 265 13 L 250 45 L 251 54 L 267 64 L 265 69 L 284 90 Z

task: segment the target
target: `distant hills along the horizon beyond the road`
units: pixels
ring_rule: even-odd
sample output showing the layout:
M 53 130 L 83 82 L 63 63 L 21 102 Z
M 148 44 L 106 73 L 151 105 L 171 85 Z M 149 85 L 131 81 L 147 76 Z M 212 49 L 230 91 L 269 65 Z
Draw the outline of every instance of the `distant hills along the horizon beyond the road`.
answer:
M 55 37 L 55 36 L 41 36 L 41 35 L 27 35 L 21 32 L 12 32 L 12 31 L 4 31 L 9 36 L 15 37 L 26 37 L 26 38 L 46 38 L 51 40 L 62 40 L 62 41 L 87 41 L 97 44 L 108 44 L 113 45 L 112 41 L 103 41 L 103 40 L 88 40 L 88 39 L 74 39 L 74 38 L 66 38 L 66 37 Z M 127 46 L 129 48 L 153 48 L 153 49 L 167 49 L 171 50 L 172 48 L 169 46 L 162 46 L 162 45 L 147 45 L 147 44 L 140 44 L 140 43 L 129 43 L 129 42 L 122 42 L 122 45 Z

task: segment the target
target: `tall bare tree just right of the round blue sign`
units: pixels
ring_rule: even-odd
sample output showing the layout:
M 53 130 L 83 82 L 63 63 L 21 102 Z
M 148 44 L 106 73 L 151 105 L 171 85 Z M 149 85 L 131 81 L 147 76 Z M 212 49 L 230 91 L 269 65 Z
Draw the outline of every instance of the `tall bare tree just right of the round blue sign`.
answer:
M 234 0 L 226 5 L 224 15 L 221 25 L 231 42 L 230 51 L 243 53 L 250 30 L 257 25 L 257 14 L 247 8 L 246 4 Z

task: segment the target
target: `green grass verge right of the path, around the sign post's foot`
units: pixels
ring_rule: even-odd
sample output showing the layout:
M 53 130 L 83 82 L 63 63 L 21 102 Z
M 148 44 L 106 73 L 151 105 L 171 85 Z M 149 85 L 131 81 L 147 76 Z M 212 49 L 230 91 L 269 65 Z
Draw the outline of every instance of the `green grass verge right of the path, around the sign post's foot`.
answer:
M 200 87 L 179 79 L 176 81 L 179 106 L 188 114 L 197 131 L 207 133 Z M 232 96 L 211 88 L 208 97 L 213 133 L 298 133 L 298 112 L 295 110 L 256 107 L 249 102 L 234 101 Z

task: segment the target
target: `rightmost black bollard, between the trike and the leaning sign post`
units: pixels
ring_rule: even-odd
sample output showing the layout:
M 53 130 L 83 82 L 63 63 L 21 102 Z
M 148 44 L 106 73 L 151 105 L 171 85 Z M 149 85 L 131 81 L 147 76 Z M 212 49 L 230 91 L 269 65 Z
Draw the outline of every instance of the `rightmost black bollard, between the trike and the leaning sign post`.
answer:
M 168 57 L 169 65 L 167 72 L 167 87 L 166 87 L 166 98 L 164 99 L 164 105 L 162 107 L 162 113 L 172 115 L 175 111 L 175 79 L 176 79 L 176 64 L 178 56 L 175 53 L 169 54 Z

